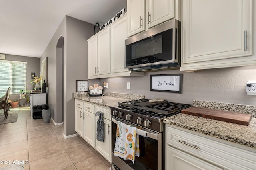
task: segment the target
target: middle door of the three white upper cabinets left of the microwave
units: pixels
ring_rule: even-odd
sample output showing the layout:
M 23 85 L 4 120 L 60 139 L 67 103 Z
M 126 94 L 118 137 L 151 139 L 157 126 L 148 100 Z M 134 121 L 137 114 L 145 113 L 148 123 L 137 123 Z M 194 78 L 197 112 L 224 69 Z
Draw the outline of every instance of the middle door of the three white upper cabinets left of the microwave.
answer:
M 98 34 L 98 74 L 110 73 L 110 28 Z

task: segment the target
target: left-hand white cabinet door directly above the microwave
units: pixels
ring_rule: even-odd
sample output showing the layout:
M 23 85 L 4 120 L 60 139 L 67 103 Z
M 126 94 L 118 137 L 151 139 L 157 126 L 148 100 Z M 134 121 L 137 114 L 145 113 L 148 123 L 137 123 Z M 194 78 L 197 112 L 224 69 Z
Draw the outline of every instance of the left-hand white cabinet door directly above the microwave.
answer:
M 128 37 L 145 30 L 145 0 L 127 0 Z

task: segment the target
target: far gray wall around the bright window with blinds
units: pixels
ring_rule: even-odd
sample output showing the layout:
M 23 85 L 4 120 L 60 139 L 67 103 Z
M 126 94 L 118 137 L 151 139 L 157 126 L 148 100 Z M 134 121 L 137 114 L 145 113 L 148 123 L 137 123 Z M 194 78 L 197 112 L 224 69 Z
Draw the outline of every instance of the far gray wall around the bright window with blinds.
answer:
M 35 72 L 36 76 L 40 77 L 40 58 L 6 54 L 5 60 L 27 62 L 27 83 L 26 83 L 27 89 L 26 90 L 32 90 L 33 85 L 30 83 L 30 81 L 32 80 L 31 72 Z M 10 99 L 18 100 L 19 96 L 20 94 L 10 95 Z

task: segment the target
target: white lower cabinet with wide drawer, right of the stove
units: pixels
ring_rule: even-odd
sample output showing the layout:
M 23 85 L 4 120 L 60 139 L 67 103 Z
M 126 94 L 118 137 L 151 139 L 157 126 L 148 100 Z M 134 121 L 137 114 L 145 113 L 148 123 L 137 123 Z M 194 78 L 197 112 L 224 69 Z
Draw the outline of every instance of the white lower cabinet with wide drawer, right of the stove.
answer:
M 253 148 L 166 124 L 167 170 L 255 170 L 255 160 Z

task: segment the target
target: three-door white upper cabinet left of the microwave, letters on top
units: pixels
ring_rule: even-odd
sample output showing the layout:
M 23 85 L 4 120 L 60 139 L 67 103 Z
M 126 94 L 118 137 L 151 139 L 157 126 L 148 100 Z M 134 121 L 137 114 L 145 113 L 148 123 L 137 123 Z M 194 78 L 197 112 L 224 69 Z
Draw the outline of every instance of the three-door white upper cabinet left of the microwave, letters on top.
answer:
M 88 79 L 145 75 L 124 68 L 126 15 L 87 40 Z

